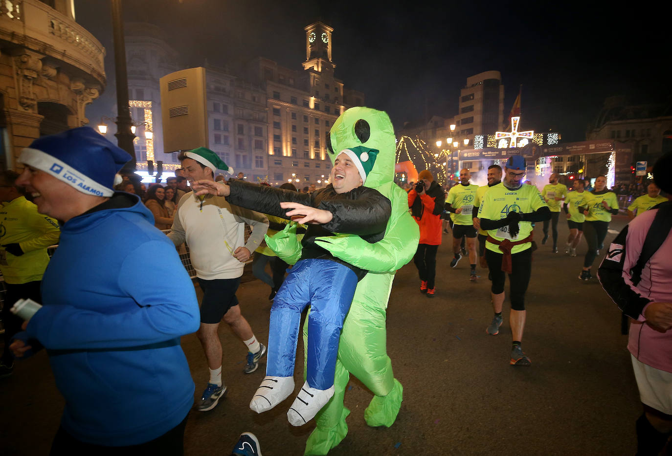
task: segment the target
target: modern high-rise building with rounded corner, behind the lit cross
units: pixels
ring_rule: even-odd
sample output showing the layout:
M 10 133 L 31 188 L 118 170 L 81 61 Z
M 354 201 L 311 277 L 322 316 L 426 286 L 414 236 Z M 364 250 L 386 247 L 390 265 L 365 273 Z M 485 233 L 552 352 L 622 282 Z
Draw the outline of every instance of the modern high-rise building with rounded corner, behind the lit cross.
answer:
M 460 90 L 456 131 L 461 138 L 493 134 L 504 119 L 504 86 L 499 71 L 485 71 L 468 77 Z

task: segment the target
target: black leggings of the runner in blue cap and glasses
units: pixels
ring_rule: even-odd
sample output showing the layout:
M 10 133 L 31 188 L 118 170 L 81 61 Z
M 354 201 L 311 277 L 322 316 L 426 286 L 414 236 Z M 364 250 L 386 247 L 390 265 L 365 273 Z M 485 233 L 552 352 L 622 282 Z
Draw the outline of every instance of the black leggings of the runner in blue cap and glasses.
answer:
M 502 271 L 501 253 L 485 250 L 485 260 L 488 262 L 490 275 L 493 280 L 491 291 L 498 295 L 504 292 L 506 273 Z M 509 300 L 513 310 L 525 310 L 525 293 L 528 291 L 532 276 L 532 248 L 511 255 L 511 274 L 509 274 Z

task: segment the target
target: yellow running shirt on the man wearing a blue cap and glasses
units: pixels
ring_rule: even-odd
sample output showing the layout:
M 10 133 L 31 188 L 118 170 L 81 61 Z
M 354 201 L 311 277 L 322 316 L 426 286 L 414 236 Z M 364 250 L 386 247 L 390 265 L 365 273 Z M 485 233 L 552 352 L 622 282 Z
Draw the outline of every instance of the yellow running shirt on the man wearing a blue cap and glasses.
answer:
M 540 208 L 548 207 L 544 197 L 534 185 L 522 185 L 517 190 L 507 189 L 503 183 L 493 185 L 485 193 L 483 201 L 478 208 L 478 218 L 488 218 L 490 220 L 501 220 L 509 215 L 509 212 L 521 212 L 529 214 Z M 532 232 L 532 222 L 519 222 L 520 231 L 517 236 L 512 237 L 509 234 L 508 226 L 503 226 L 497 230 L 488 230 L 488 234 L 497 240 L 510 239 L 512 241 L 525 239 Z M 511 254 L 526 250 L 532 246 L 531 242 L 519 244 L 511 248 Z M 486 241 L 485 247 L 493 252 L 502 253 L 499 246 Z

